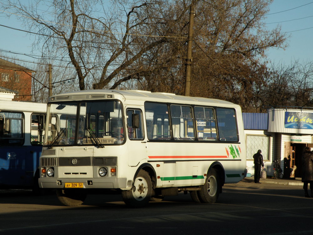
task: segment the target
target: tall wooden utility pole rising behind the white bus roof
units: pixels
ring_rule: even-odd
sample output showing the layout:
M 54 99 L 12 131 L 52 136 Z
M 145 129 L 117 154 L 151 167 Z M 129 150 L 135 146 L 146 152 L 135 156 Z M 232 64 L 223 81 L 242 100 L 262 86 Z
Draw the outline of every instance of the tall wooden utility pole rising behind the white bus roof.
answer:
M 191 50 L 192 50 L 192 28 L 193 28 L 193 17 L 194 17 L 194 5 L 193 0 L 190 5 L 189 13 L 189 29 L 188 29 L 188 44 L 187 44 L 187 57 L 186 57 L 186 76 L 185 76 L 185 96 L 190 95 L 190 74 L 191 74 Z

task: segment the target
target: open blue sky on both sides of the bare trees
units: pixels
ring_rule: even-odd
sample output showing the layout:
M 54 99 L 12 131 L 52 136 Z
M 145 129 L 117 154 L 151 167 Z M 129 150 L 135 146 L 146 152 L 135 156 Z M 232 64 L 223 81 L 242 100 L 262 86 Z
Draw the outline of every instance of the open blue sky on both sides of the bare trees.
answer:
M 5 2 L 6 0 L 0 1 Z M 10 18 L 5 18 L 3 17 L 3 12 L 0 11 L 0 16 L 1 25 L 17 29 L 24 29 L 21 23 L 16 20 L 14 15 L 12 15 Z M 277 24 L 280 24 L 282 27 L 282 32 L 290 32 L 290 37 L 288 39 L 289 46 L 285 50 L 268 50 L 267 55 L 269 60 L 274 61 L 275 64 L 290 64 L 290 62 L 294 60 L 299 60 L 300 62 L 313 60 L 312 0 L 275 0 L 270 5 L 270 12 L 266 17 L 266 23 L 269 29 L 275 27 Z M 34 58 L 25 55 L 10 54 L 1 51 L 9 50 L 21 54 L 32 54 L 31 44 L 34 41 L 33 35 L 29 35 L 18 30 L 8 29 L 3 26 L 0 26 L 0 32 L 0 55 L 15 57 L 22 60 L 36 61 Z M 18 61 L 16 62 L 18 63 Z

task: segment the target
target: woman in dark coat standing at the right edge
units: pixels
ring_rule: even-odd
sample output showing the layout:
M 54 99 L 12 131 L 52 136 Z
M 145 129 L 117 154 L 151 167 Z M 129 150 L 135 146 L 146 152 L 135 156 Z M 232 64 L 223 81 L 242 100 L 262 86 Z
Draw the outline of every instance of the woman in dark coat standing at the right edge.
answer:
M 302 156 L 302 182 L 304 196 L 310 197 L 308 193 L 308 183 L 310 183 L 311 197 L 313 197 L 313 152 L 309 147 L 305 147 Z

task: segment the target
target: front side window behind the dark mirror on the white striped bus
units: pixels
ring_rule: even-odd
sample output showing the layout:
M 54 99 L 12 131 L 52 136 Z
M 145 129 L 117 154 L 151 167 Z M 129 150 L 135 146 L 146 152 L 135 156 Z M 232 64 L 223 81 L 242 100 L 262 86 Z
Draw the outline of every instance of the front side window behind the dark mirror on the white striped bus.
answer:
M 133 117 L 134 114 L 138 114 L 139 115 L 139 127 L 135 128 L 133 126 Z M 142 113 L 141 110 L 137 110 L 137 109 L 127 109 L 127 133 L 128 133 L 128 137 L 129 139 L 132 140 L 142 140 L 144 138 L 143 136 L 143 132 L 142 132 Z

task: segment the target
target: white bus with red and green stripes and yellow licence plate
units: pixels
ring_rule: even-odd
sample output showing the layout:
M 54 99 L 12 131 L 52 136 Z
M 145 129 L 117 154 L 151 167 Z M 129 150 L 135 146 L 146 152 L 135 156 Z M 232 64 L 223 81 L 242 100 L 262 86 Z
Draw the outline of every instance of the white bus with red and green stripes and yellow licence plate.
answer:
M 39 186 L 67 206 L 92 189 L 120 190 L 133 207 L 190 192 L 214 203 L 245 176 L 241 108 L 149 91 L 90 90 L 49 98 Z

